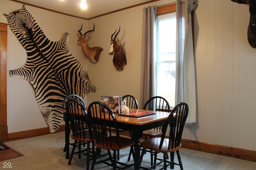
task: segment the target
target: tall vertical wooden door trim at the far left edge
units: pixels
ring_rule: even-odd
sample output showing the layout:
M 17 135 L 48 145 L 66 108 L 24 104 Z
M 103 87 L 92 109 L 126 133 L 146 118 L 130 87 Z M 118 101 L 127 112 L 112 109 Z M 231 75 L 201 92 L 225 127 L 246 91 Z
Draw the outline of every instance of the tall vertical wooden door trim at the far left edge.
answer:
M 7 25 L 0 23 L 0 142 L 8 141 L 7 127 Z

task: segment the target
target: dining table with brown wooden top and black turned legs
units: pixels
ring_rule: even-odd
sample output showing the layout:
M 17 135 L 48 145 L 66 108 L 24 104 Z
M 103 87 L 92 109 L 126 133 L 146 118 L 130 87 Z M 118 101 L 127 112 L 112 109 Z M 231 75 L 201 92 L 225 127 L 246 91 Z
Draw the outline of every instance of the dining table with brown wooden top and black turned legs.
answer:
M 69 120 L 66 114 L 66 110 L 62 110 L 64 113 L 65 127 L 65 141 L 66 141 L 66 158 L 69 158 Z M 129 109 L 129 112 L 149 112 L 156 113 L 153 115 L 147 115 L 144 117 L 128 117 L 124 115 L 115 114 L 119 129 L 124 129 L 132 131 L 133 139 L 135 141 L 134 145 L 134 169 L 140 169 L 140 139 L 143 135 L 143 131 L 152 129 L 154 127 L 162 126 L 166 123 L 170 112 L 164 111 L 151 111 L 142 109 Z

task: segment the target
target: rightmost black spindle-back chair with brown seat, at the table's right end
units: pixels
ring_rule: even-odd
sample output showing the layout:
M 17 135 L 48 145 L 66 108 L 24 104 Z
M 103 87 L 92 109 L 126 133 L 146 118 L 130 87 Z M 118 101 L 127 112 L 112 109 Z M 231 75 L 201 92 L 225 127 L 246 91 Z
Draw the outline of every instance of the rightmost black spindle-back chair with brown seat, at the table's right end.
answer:
M 179 149 L 182 147 L 180 141 L 187 117 L 188 104 L 184 102 L 177 104 L 170 113 L 165 125 L 162 128 L 162 137 L 151 138 L 140 143 L 141 147 L 143 147 L 141 161 L 143 160 L 143 154 L 146 149 L 154 150 L 155 152 L 154 164 L 148 169 L 155 169 L 156 166 L 164 162 L 164 167 L 161 169 L 166 170 L 169 165 L 172 165 L 173 168 L 174 165 L 179 165 L 180 169 L 183 170 Z M 170 127 L 170 133 L 166 134 L 168 127 Z M 166 138 L 166 135 L 169 135 L 169 138 Z M 174 153 L 175 151 L 179 163 L 174 162 L 174 154 L 173 156 L 170 156 L 170 161 L 167 160 L 168 158 L 166 155 L 168 155 L 169 152 Z M 159 152 L 163 153 L 163 159 L 157 158 L 157 154 Z M 156 162 L 157 160 L 160 160 L 160 162 Z

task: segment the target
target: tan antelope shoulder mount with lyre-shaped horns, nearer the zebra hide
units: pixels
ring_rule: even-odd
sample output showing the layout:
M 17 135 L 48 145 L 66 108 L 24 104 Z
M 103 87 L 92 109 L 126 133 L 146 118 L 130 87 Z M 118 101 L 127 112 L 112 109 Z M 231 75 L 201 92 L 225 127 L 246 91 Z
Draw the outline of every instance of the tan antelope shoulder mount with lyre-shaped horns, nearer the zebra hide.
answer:
M 83 23 L 82 23 L 82 26 L 83 26 Z M 100 53 L 103 49 L 101 47 L 92 47 L 91 48 L 91 47 L 88 46 L 88 42 L 87 42 L 87 39 L 91 35 L 90 32 L 94 31 L 94 23 L 93 23 L 93 29 L 89 30 L 89 31 L 86 31 L 86 33 L 84 33 L 84 34 L 81 33 L 82 26 L 81 26 L 81 29 L 78 30 L 80 35 L 77 34 L 78 43 L 81 43 L 82 50 L 83 50 L 84 54 L 90 59 L 90 61 L 97 63 L 99 61 L 99 58 L 100 58 Z M 88 35 L 86 36 L 86 34 L 88 34 Z

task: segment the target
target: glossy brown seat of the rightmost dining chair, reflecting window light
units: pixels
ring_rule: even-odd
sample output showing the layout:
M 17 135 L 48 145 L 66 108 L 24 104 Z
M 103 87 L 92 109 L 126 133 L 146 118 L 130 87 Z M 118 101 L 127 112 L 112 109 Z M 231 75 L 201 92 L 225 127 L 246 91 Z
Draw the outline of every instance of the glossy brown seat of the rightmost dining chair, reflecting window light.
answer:
M 159 149 L 160 141 L 161 141 L 160 137 L 155 137 L 155 138 L 143 141 L 142 143 L 140 143 L 140 146 L 145 149 L 155 150 L 157 152 L 162 152 L 162 153 L 174 152 L 176 150 L 179 150 L 182 146 L 180 143 L 180 145 L 178 147 L 176 147 L 174 149 L 168 149 L 168 145 L 172 142 L 170 140 L 170 143 L 169 143 L 169 139 L 165 138 L 164 143 L 162 145 L 162 149 Z

